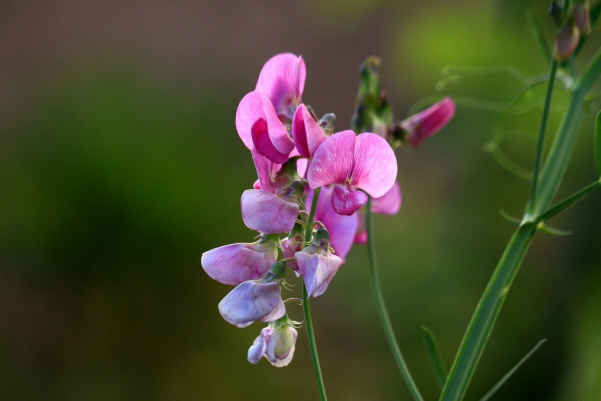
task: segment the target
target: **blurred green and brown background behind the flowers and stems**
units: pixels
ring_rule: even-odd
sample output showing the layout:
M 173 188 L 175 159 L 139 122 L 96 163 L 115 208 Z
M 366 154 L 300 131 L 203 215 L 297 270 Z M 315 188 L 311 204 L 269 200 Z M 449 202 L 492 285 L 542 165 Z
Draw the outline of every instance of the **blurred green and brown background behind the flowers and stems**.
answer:
M 419 327 L 435 332 L 450 366 L 513 230 L 498 211 L 519 215 L 528 191 L 483 152 L 498 113 L 482 108 L 519 82 L 462 74 L 442 91 L 435 85 L 456 64 L 545 73 L 525 12 L 550 40 L 547 8 L 523 0 L 1 2 L 0 399 L 316 399 L 304 329 L 290 366 L 248 364 L 261 325 L 224 322 L 217 304 L 230 288 L 200 266 L 207 249 L 254 236 L 239 197 L 256 177 L 234 115 L 263 63 L 284 51 L 304 56 L 305 103 L 335 112 L 338 129 L 350 125 L 357 71 L 372 54 L 382 58 L 397 117 L 427 96 L 459 103 L 444 131 L 398 152 L 403 207 L 376 217 L 398 340 L 424 396 L 435 399 Z M 600 44 L 595 29 L 579 70 Z M 543 89 L 520 100 L 535 105 L 528 112 L 502 118 L 520 138 L 501 145 L 526 168 Z M 552 132 L 565 100 L 559 91 Z M 593 112 L 600 106 L 591 103 Z M 560 195 L 594 179 L 592 126 L 586 114 Z M 467 399 L 541 338 L 496 399 L 601 399 L 600 204 L 595 194 L 555 219 L 572 236 L 534 240 Z M 409 399 L 366 262 L 355 246 L 312 302 L 326 388 L 331 400 Z M 301 308 L 291 314 L 302 320 Z

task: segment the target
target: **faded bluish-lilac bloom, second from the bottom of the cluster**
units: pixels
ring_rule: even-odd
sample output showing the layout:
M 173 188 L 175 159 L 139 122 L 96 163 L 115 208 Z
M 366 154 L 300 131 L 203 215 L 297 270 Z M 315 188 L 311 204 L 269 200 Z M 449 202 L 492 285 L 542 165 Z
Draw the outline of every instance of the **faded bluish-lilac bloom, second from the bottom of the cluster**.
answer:
M 219 313 L 225 321 L 240 328 L 255 320 L 272 322 L 285 311 L 279 283 L 269 277 L 245 281 L 219 302 Z

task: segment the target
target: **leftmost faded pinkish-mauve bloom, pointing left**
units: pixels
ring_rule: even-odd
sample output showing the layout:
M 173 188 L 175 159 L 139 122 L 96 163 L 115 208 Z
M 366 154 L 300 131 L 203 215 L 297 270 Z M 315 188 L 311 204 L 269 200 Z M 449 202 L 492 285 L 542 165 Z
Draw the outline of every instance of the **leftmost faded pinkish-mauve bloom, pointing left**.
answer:
M 203 253 L 201 265 L 210 278 L 222 284 L 236 286 L 255 280 L 275 263 L 278 248 L 275 242 L 232 243 Z

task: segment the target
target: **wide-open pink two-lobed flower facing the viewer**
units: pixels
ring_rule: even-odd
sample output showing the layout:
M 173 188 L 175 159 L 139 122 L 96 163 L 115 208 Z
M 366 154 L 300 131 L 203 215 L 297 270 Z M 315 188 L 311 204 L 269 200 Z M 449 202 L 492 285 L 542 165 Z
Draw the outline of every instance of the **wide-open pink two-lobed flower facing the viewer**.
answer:
M 331 202 L 335 212 L 352 215 L 367 203 L 362 189 L 377 198 L 397 177 L 397 159 L 385 139 L 375 133 L 335 133 L 317 148 L 307 171 L 311 188 L 335 184 Z

